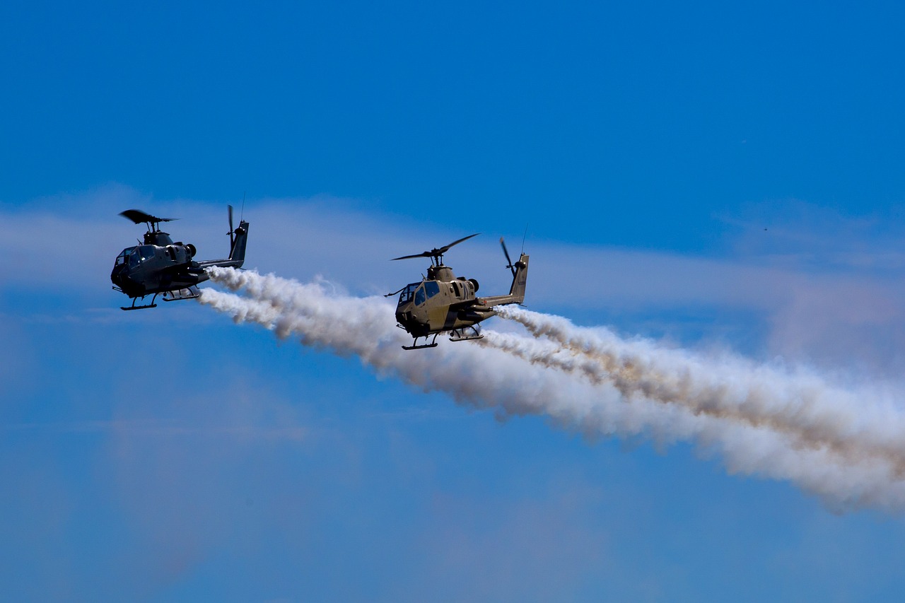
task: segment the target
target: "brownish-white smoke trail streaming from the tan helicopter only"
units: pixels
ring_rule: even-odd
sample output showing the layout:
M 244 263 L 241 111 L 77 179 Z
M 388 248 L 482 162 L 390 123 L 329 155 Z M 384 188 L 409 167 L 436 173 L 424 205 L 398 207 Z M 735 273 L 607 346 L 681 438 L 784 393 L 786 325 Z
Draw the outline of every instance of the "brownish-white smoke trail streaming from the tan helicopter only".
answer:
M 905 426 L 891 405 L 878 408 L 800 370 L 789 374 L 727 356 L 705 361 L 651 341 L 620 340 L 609 330 L 582 329 L 560 317 L 519 308 L 499 310 L 500 316 L 549 339 L 526 341 L 488 332 L 481 345 L 593 383 L 611 383 L 628 398 L 645 397 L 680 405 L 695 415 L 772 429 L 795 445 L 826 447 L 850 460 L 881 457 L 897 477 L 905 476 Z M 874 394 L 870 400 L 880 398 Z

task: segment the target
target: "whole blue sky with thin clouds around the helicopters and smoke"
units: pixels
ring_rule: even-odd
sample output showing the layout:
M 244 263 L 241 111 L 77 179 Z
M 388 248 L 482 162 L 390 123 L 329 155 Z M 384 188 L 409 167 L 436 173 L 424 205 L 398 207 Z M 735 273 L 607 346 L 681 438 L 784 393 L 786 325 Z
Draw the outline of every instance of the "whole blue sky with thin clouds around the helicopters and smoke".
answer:
M 0 592 L 898 596 L 897 512 L 121 312 L 109 274 L 119 211 L 219 257 L 243 192 L 247 267 L 355 295 L 472 232 L 447 260 L 501 291 L 527 224 L 534 311 L 905 391 L 903 10 L 5 3 Z

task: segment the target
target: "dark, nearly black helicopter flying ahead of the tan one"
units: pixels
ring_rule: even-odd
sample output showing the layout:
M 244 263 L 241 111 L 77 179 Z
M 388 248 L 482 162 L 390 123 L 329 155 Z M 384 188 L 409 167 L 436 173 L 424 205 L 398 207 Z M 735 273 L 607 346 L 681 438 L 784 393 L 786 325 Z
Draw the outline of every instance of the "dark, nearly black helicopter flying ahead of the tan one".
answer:
M 121 310 L 144 310 L 157 308 L 157 295 L 163 293 L 164 302 L 194 300 L 201 295 L 196 285 L 209 277 L 205 268 L 230 266 L 240 268 L 245 260 L 245 243 L 248 240 L 248 223 L 240 220 L 233 230 L 233 206 L 229 207 L 229 258 L 225 260 L 205 260 L 197 262 L 195 245 L 178 241 L 173 243 L 168 233 L 160 230 L 163 222 L 176 218 L 161 218 L 138 209 L 128 209 L 119 215 L 135 224 L 148 226 L 144 244 L 126 247 L 117 256 L 110 273 L 113 289 L 126 293 L 132 298 L 131 306 L 121 306 Z M 151 302 L 144 304 L 145 297 L 154 294 Z M 138 298 L 143 305 L 135 305 Z

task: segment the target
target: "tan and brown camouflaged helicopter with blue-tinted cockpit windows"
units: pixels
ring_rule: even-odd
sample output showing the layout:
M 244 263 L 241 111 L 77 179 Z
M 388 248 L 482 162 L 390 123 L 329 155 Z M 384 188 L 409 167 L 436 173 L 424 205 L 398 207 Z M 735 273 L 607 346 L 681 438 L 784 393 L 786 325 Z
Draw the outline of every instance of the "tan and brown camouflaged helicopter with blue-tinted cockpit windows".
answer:
M 452 268 L 443 265 L 443 254 L 449 251 L 452 245 L 462 243 L 472 238 L 468 235 L 458 241 L 425 251 L 421 254 L 403 255 L 393 260 L 408 260 L 416 257 L 431 258 L 431 265 L 427 269 L 427 276 L 421 282 L 412 282 L 405 285 L 397 292 L 387 293 L 390 297 L 399 293 L 399 303 L 396 305 L 395 318 L 400 329 L 405 330 L 413 338 L 411 346 L 403 346 L 403 349 L 424 349 L 437 346 L 437 336 L 443 332 L 450 332 L 451 341 L 480 340 L 483 335 L 478 328 L 478 323 L 491 318 L 497 312 L 494 306 L 525 301 L 525 283 L 528 281 L 528 255 L 522 253 L 519 261 L 512 263 L 506 244 L 500 237 L 500 245 L 508 262 L 507 268 L 512 272 L 512 285 L 508 295 L 494 295 L 491 297 L 478 297 L 478 282 L 474 279 L 465 279 L 463 276 L 455 276 Z M 469 332 L 471 330 L 471 332 Z M 433 335 L 433 340 L 427 343 Z M 418 345 L 418 338 L 424 337 L 424 343 Z

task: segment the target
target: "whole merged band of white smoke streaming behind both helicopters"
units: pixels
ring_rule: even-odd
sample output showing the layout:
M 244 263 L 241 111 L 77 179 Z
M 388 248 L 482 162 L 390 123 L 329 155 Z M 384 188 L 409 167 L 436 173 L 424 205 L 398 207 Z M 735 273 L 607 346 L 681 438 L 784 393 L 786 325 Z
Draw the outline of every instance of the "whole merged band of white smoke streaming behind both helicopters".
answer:
M 325 283 L 232 269 L 209 273 L 212 281 L 248 296 L 203 292 L 202 303 L 235 321 L 357 355 L 380 374 L 447 392 L 460 403 L 493 407 L 502 416 L 544 414 L 588 436 L 697 442 L 721 455 L 729 472 L 790 480 L 836 508 L 905 508 L 894 445 L 896 434 L 905 433 L 900 414 L 890 406 L 885 413 L 872 407 L 869 416 L 862 415 L 852 406 L 858 392 L 830 388 L 815 376 L 777 379 L 776 370 L 758 371 L 740 359 L 695 358 L 510 310 L 504 311 L 507 318 L 528 323 L 546 339 L 487 332 L 485 346 L 457 343 L 408 352 L 400 348 L 408 337 L 395 328 L 393 308 L 383 298 L 355 298 Z M 545 354 L 557 362 L 540 362 Z M 576 378 L 576 372 L 587 378 Z M 762 379 L 773 380 L 758 386 Z M 882 419 L 888 422 L 874 423 Z

